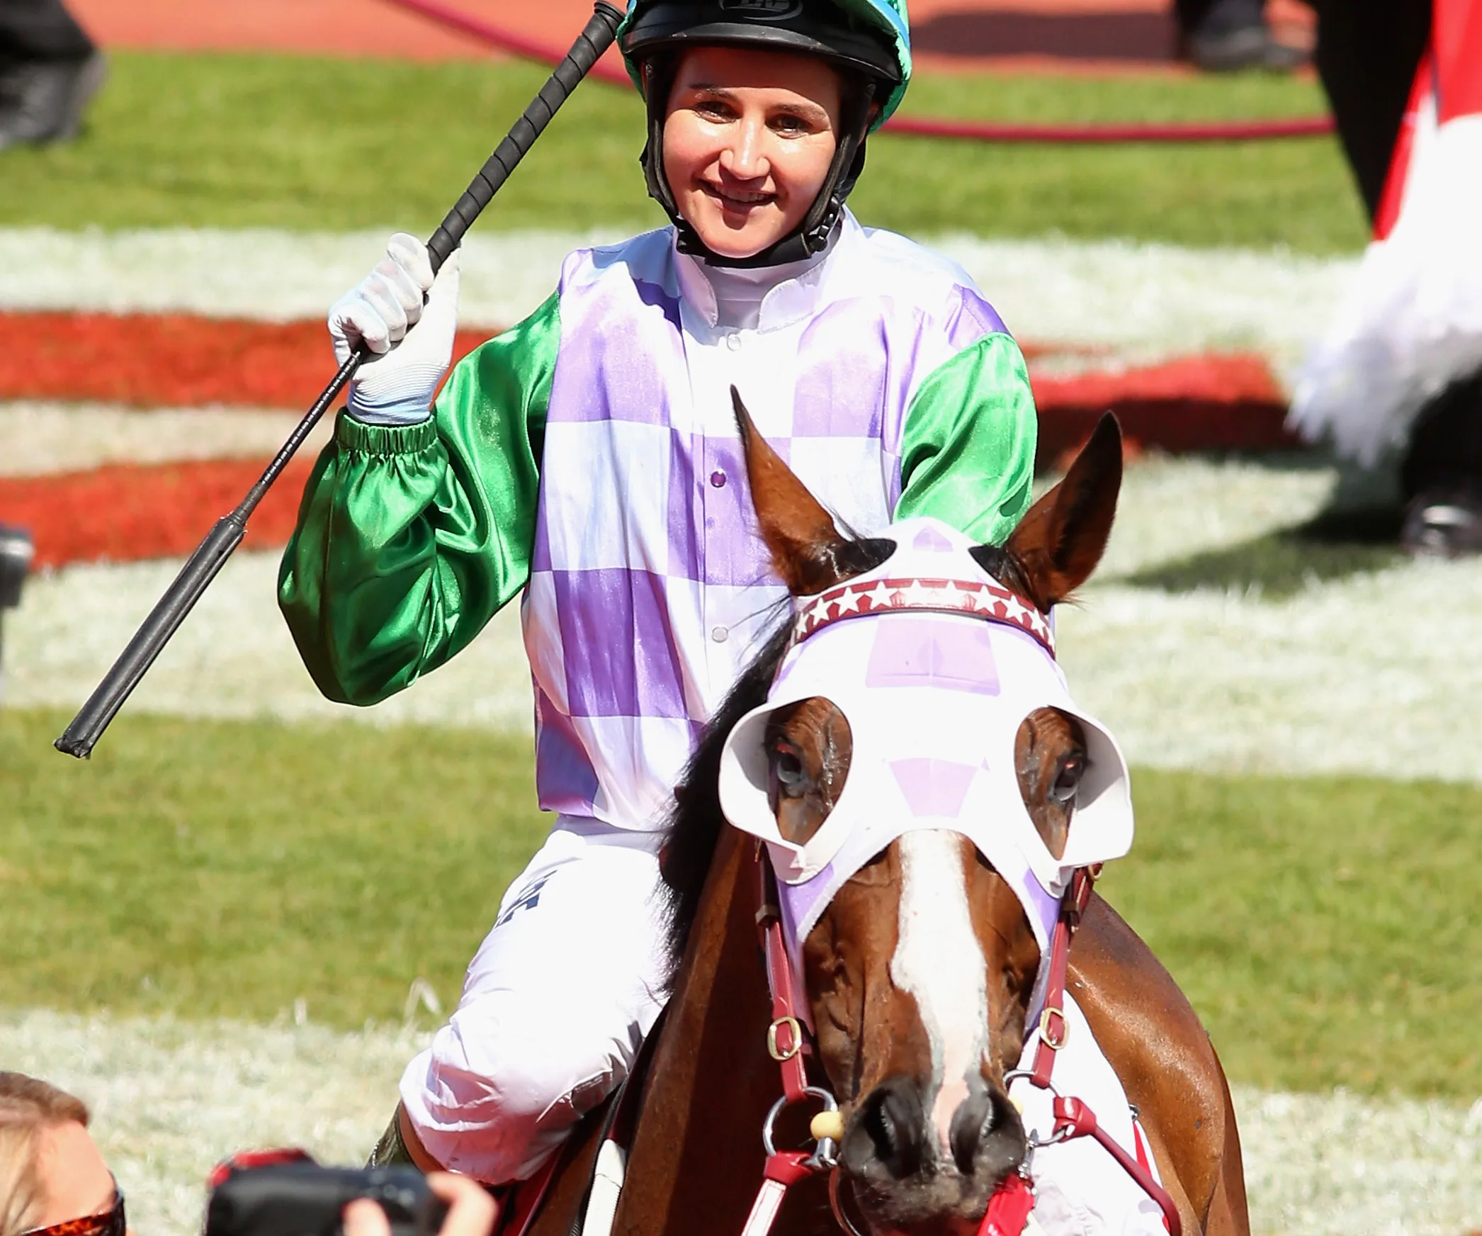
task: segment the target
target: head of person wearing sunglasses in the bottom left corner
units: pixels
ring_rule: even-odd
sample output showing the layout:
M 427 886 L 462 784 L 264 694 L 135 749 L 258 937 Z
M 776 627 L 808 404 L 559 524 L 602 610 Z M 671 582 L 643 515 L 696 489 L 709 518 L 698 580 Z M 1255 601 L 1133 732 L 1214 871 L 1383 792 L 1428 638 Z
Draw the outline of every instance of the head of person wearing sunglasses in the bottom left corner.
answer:
M 126 1236 L 123 1195 L 87 1119 L 80 1098 L 0 1071 L 0 1236 Z

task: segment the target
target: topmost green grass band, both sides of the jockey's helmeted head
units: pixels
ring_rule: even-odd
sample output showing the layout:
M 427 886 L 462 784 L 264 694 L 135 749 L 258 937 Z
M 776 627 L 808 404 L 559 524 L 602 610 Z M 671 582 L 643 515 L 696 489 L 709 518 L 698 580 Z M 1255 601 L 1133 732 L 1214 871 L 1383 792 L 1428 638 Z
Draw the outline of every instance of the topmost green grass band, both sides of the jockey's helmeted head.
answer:
M 0 224 L 430 231 L 544 71 L 265 55 L 114 56 L 84 136 L 0 154 Z M 1310 114 L 1316 84 L 1235 79 L 926 77 L 907 111 L 1002 120 Z M 590 83 L 480 224 L 661 222 L 637 170 L 642 108 Z M 1365 227 L 1334 139 L 991 147 L 880 136 L 854 205 L 908 233 L 1123 236 L 1332 253 Z

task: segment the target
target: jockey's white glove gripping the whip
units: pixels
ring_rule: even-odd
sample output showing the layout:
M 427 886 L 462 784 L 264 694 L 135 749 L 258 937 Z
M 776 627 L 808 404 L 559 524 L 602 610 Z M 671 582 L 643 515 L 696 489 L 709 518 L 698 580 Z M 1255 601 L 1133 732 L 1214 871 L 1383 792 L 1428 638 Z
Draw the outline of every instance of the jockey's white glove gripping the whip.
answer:
M 373 353 L 350 379 L 350 415 L 357 421 L 415 425 L 431 415 L 453 357 L 459 252 L 433 279 L 427 246 L 399 231 L 376 268 L 330 305 L 335 360 L 344 365 L 362 341 Z

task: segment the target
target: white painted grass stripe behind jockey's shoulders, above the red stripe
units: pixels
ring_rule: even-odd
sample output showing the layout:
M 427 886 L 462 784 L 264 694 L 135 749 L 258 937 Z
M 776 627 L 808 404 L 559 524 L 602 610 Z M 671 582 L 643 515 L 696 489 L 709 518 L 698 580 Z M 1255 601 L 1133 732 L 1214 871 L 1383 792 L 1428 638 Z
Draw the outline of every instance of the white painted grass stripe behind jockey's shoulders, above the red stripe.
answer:
M 554 289 L 574 247 L 605 233 L 480 233 L 464 242 L 462 325 L 510 326 Z M 1356 258 L 1076 240 L 926 243 L 959 261 L 1023 339 L 1114 348 L 1128 360 L 1254 350 L 1283 373 L 1337 310 Z M 0 230 L 0 308 L 323 317 L 381 256 L 376 231 Z

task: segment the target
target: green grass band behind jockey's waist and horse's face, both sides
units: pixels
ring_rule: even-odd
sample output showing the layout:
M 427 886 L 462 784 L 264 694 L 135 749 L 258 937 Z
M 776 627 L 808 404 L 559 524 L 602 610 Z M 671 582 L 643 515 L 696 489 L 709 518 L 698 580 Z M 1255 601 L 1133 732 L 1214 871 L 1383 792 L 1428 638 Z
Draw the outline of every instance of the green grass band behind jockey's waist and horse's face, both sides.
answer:
M 0 1006 L 342 1027 L 445 1000 L 538 845 L 526 740 L 0 711 Z M 1104 879 L 1230 1074 L 1482 1092 L 1482 790 L 1138 772 Z M 600 929 L 600 928 L 594 928 Z

